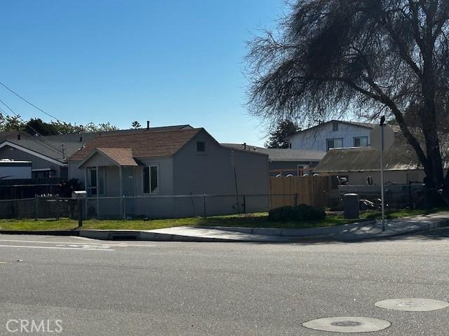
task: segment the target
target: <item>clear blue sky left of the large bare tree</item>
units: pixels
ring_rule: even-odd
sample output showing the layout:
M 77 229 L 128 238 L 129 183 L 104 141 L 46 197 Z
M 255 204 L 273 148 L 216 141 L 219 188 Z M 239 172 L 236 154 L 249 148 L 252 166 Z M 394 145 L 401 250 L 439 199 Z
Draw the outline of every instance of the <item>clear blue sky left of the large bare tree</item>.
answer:
M 71 123 L 188 123 L 220 142 L 261 145 L 248 116 L 245 42 L 281 0 L 22 1 L 0 11 L 0 80 Z M 43 113 L 0 89 L 22 118 Z

